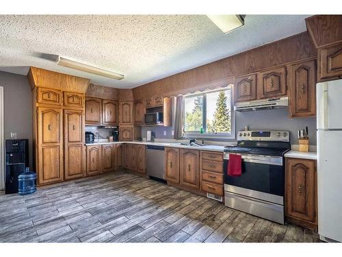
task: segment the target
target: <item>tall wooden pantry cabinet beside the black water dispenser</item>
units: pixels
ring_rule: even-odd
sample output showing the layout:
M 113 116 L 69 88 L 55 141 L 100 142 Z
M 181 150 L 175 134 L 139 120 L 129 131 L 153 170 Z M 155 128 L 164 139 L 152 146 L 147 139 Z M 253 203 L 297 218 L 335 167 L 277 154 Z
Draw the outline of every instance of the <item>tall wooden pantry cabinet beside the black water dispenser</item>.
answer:
M 34 167 L 37 184 L 85 173 L 84 95 L 89 79 L 31 67 Z

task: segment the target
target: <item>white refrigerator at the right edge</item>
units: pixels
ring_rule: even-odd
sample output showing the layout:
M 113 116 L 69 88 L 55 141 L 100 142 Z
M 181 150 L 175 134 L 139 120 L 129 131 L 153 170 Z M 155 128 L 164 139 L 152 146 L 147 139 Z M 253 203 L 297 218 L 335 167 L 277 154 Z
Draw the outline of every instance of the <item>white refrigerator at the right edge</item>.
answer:
M 316 90 L 318 233 L 342 242 L 342 79 Z

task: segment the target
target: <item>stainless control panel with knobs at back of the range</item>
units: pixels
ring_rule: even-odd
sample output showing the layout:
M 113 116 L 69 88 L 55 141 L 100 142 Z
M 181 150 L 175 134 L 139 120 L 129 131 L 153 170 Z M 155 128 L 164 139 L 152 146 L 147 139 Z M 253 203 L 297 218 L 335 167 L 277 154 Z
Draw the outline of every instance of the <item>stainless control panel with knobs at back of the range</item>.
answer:
M 289 142 L 290 132 L 287 130 L 249 130 L 237 132 L 237 140 L 282 141 Z

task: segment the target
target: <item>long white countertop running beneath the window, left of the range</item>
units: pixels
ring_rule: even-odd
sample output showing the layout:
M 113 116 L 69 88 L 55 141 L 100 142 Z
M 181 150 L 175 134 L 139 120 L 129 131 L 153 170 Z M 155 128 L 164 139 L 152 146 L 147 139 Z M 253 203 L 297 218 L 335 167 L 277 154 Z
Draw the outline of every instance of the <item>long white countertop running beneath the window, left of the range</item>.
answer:
M 95 143 L 88 143 L 86 145 L 107 145 L 107 144 L 138 144 L 138 145 L 156 145 L 161 147 L 176 147 L 176 148 L 185 148 L 185 149 L 197 149 L 202 151 L 220 151 L 223 152 L 224 146 L 222 145 L 205 145 L 202 147 L 191 147 L 187 145 L 181 145 L 181 143 L 166 143 L 166 142 L 147 142 L 147 141 L 119 141 L 119 142 L 109 142 L 109 141 L 100 141 Z

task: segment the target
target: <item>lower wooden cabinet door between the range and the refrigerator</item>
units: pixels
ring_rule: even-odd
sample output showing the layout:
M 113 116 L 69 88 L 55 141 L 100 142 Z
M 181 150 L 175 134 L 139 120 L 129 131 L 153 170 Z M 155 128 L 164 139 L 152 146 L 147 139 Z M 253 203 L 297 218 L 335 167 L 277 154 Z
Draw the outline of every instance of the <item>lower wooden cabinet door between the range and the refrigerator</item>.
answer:
M 287 158 L 286 163 L 287 215 L 314 222 L 316 210 L 315 160 Z

